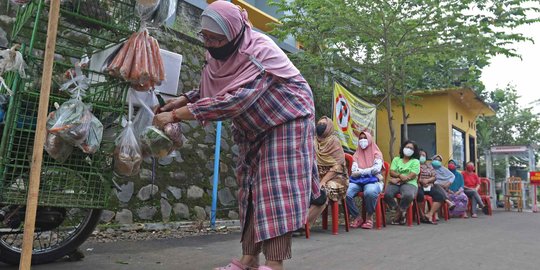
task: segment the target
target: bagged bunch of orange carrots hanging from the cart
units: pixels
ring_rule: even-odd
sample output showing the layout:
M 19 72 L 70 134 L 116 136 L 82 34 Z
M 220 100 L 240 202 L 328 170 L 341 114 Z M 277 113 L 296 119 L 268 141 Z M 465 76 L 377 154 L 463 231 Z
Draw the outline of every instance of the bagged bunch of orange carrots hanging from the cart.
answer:
M 146 29 L 133 33 L 107 67 L 109 74 L 131 82 L 133 89 L 147 91 L 165 80 L 165 67 L 156 39 Z

